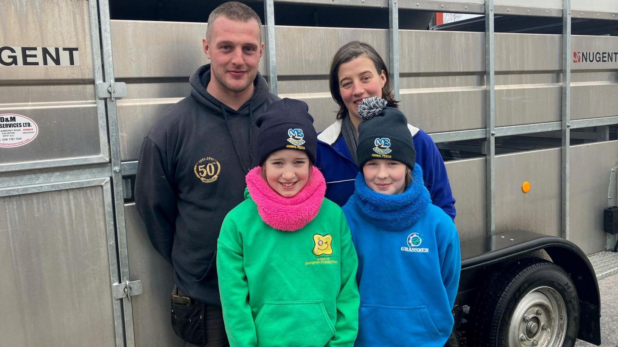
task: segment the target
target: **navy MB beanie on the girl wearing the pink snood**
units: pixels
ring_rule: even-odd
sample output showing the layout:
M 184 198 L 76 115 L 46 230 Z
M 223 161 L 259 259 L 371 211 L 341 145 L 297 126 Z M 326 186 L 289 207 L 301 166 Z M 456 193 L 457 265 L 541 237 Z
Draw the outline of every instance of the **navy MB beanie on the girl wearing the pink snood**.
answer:
M 315 164 L 318 135 L 313 127 L 313 117 L 303 101 L 284 98 L 270 104 L 255 120 L 260 128 L 257 138 L 258 165 L 279 149 L 298 149 L 307 153 Z

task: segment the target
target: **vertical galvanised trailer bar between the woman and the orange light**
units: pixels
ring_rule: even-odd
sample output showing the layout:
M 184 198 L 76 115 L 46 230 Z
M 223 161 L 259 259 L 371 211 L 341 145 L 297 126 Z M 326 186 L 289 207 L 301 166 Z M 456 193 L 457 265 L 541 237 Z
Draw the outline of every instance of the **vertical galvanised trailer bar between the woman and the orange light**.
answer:
M 495 132 L 495 57 L 494 57 L 494 0 L 485 1 L 485 174 L 487 235 L 496 232 L 496 132 Z

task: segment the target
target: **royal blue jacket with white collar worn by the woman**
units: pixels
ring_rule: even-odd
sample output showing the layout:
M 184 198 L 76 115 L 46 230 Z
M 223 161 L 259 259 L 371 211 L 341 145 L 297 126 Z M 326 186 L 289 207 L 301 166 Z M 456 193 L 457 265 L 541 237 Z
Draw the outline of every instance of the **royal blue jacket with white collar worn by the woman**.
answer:
M 326 198 L 344 206 L 354 191 L 354 178 L 359 170 L 341 136 L 341 125 L 342 121 L 337 120 L 318 134 L 316 166 L 326 179 Z M 408 128 L 417 151 L 416 162 L 423 169 L 423 180 L 431 194 L 431 203 L 455 220 L 455 198 L 438 147 L 423 130 L 409 124 Z

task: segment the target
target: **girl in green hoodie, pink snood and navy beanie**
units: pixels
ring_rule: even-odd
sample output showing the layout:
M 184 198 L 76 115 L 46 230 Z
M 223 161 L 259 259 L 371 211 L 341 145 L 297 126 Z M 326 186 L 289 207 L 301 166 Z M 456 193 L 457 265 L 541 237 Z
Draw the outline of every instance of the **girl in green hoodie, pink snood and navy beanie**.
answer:
M 256 120 L 260 166 L 227 214 L 217 247 L 232 347 L 352 347 L 358 265 L 341 208 L 313 166 L 316 132 L 305 102 L 273 102 Z

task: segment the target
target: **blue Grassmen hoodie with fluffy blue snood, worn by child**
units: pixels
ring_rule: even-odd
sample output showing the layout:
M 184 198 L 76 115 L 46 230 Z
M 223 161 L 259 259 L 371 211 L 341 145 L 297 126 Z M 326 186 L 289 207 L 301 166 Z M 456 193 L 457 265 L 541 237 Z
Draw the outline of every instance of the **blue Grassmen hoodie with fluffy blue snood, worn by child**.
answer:
M 376 193 L 360 172 L 343 207 L 358 253 L 355 347 L 442 347 L 459 286 L 459 236 L 431 204 L 418 164 L 401 194 Z

